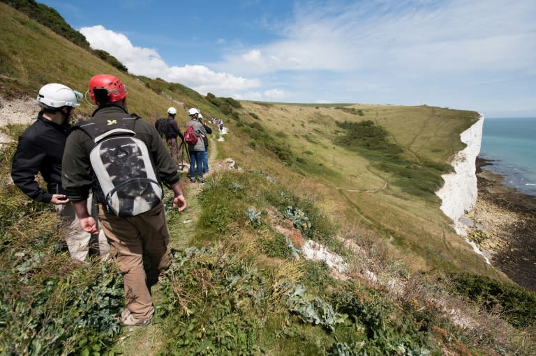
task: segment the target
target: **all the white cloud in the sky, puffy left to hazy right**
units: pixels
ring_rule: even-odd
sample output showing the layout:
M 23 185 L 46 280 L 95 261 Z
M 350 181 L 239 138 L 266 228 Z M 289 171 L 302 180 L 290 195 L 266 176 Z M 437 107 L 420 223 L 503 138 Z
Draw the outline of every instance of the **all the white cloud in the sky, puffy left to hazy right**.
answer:
M 209 57 L 216 62 L 181 66 L 168 65 L 156 50 L 135 47 L 103 26 L 80 31 L 129 71 L 200 93 L 244 100 L 418 103 L 485 113 L 497 107 L 498 98 L 515 107 L 516 98 L 533 91 L 535 13 L 534 0 L 299 1 L 285 21 L 277 17 L 279 22 L 263 26 L 270 40 L 248 44 L 221 33 L 207 41 L 227 51 Z M 259 17 L 253 20 L 271 18 Z

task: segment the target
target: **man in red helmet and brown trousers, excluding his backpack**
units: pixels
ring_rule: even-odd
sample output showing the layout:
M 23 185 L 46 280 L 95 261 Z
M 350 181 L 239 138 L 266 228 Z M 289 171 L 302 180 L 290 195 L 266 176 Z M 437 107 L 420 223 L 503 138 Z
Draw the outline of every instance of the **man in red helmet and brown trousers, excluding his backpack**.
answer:
M 95 125 L 110 125 L 126 117 L 135 117 L 126 111 L 126 87 L 112 75 L 96 75 L 89 81 L 89 96 L 98 108 L 89 121 Z M 158 179 L 174 192 L 173 207 L 182 211 L 186 200 L 179 185 L 179 173 L 168 149 L 153 125 L 142 119 L 135 120 L 135 137 L 143 141 L 154 162 Z M 158 275 L 171 263 L 168 251 L 169 232 L 164 206 L 133 217 L 117 217 L 105 209 L 105 197 L 95 178 L 89 154 L 95 142 L 83 130 L 73 130 L 66 142 L 63 158 L 62 183 L 73 201 L 84 231 L 94 232 L 95 220 L 89 216 L 84 201 L 89 188 L 99 197 L 99 219 L 114 257 L 123 274 L 126 309 L 121 313 L 124 325 L 147 325 L 154 314 L 149 288 L 158 281 Z M 144 265 L 146 269 L 144 269 Z

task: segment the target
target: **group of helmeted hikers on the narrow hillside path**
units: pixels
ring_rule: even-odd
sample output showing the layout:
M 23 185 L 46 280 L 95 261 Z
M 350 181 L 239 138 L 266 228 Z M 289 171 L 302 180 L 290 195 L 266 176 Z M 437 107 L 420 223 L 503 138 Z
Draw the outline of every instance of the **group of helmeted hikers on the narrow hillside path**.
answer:
M 153 314 L 151 286 L 171 263 L 170 235 L 162 203 L 162 185 L 172 189 L 173 208 L 187 204 L 179 185 L 177 137 L 198 134 L 188 143 L 190 179 L 208 171 L 204 162 L 211 132 L 198 109 L 188 111 L 184 135 L 168 109 L 170 150 L 155 127 L 127 111 L 127 90 L 113 75 L 89 80 L 89 97 L 97 109 L 87 121 L 69 121 L 82 93 L 63 84 L 40 88 L 36 121 L 19 137 L 11 176 L 31 199 L 52 203 L 66 222 L 66 242 L 76 263 L 84 263 L 90 247 L 98 246 L 101 258 L 119 266 L 124 281 L 124 325 L 147 325 Z M 203 138 L 204 137 L 204 138 Z M 194 165 L 195 162 L 195 165 Z M 46 190 L 36 182 L 40 173 Z M 95 243 L 98 241 L 98 243 Z

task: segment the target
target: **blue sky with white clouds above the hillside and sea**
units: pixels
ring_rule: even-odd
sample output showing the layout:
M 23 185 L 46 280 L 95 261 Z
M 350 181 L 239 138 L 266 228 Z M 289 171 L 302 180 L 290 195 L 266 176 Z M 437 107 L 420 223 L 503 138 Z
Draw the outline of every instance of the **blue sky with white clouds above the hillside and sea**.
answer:
M 536 117 L 536 1 L 39 1 L 129 72 L 206 95 Z

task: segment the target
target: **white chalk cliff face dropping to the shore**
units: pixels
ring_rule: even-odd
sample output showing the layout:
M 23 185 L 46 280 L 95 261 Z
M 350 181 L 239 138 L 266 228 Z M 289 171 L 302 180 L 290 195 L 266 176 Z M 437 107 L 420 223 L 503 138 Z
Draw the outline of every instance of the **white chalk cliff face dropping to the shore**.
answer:
M 482 144 L 482 126 L 484 116 L 460 134 L 461 141 L 466 148 L 456 153 L 451 164 L 454 173 L 444 174 L 443 185 L 435 194 L 442 200 L 441 210 L 454 222 L 454 229 L 459 235 L 465 236 L 467 225 L 463 222 L 463 215 L 472 210 L 477 201 L 477 175 L 476 159 Z

